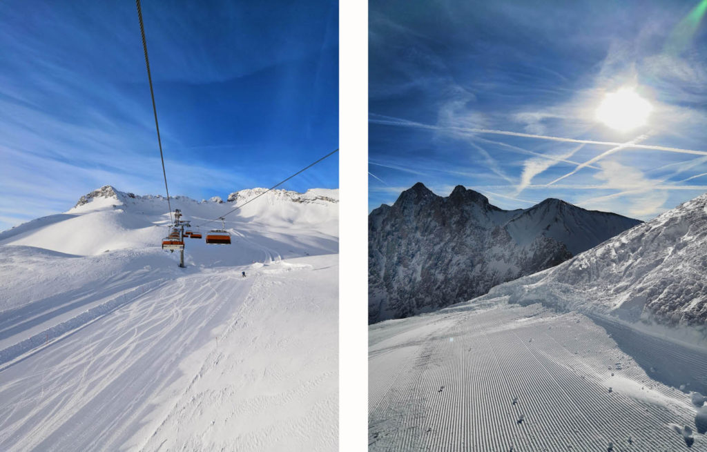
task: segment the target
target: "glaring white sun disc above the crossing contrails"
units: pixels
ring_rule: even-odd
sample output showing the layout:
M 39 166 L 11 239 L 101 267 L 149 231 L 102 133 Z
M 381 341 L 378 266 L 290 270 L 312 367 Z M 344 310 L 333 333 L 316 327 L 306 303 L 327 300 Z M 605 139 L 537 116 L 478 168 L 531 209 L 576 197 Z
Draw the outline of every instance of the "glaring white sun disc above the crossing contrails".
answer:
M 621 132 L 645 125 L 653 107 L 633 88 L 621 88 L 607 93 L 597 108 L 597 120 Z

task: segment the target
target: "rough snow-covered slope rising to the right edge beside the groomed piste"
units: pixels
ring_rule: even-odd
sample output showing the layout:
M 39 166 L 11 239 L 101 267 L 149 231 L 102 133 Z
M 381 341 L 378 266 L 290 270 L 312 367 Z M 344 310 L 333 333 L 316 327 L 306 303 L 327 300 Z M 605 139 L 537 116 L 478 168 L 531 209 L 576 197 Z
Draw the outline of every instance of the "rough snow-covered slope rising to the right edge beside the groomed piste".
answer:
M 485 299 L 543 304 L 707 334 L 707 194 Z M 679 331 L 675 331 L 678 334 Z

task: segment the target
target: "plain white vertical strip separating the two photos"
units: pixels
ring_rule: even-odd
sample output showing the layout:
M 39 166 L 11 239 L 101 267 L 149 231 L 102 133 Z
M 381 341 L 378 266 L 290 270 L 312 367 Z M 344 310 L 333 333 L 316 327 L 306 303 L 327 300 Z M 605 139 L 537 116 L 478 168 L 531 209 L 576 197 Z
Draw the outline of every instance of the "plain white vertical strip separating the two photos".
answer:
M 339 450 L 368 449 L 368 1 L 339 3 Z

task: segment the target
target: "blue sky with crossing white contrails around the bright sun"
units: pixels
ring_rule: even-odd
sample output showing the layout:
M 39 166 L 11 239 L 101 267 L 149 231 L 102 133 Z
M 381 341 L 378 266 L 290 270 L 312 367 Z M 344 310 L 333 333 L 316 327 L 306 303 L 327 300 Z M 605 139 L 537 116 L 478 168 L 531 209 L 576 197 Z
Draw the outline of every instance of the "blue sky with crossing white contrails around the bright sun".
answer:
M 502 208 L 561 198 L 642 220 L 703 194 L 700 3 L 371 2 L 369 208 L 415 182 L 441 196 L 462 184 Z M 626 87 L 653 109 L 621 132 L 596 111 Z

